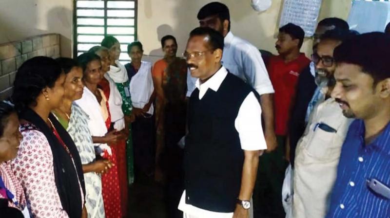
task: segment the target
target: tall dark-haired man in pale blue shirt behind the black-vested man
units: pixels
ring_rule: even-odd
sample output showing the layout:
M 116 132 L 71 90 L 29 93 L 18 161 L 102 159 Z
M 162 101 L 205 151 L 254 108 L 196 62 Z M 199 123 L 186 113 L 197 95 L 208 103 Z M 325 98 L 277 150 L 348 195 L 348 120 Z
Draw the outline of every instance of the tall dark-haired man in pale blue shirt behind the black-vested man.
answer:
M 230 14 L 225 4 L 208 3 L 199 10 L 197 18 L 201 27 L 210 27 L 224 36 L 223 66 L 259 93 L 267 151 L 273 151 L 277 146 L 273 125 L 274 91 L 260 52 L 254 45 L 230 32 Z M 190 96 L 195 90 L 195 78 L 190 73 L 187 74 L 187 87 L 187 96 Z

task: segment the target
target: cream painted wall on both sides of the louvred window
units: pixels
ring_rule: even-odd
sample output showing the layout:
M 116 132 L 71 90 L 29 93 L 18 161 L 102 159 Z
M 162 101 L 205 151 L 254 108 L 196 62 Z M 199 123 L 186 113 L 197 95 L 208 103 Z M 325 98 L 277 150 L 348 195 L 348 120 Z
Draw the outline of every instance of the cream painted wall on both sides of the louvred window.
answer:
M 211 0 L 138 0 L 138 39 L 144 44 L 147 59 L 162 56 L 160 38 L 176 36 L 179 50 L 184 51 L 189 32 L 198 26 L 198 10 Z M 220 0 L 231 11 L 232 32 L 252 42 L 256 47 L 276 53 L 275 34 L 282 0 L 272 0 L 263 13 L 255 12 L 250 0 Z M 323 0 L 320 19 L 346 19 L 351 0 Z M 0 44 L 46 33 L 61 35 L 61 55 L 72 55 L 73 0 L 1 0 Z M 302 51 L 311 53 L 311 41 Z

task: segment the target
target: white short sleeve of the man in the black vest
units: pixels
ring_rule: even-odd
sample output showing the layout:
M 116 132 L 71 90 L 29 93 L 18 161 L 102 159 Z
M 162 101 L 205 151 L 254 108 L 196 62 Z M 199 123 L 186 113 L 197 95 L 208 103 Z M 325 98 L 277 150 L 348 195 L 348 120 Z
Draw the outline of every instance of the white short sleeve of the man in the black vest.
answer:
M 234 126 L 240 137 L 241 149 L 267 149 L 261 126 L 261 108 L 253 92 L 249 93 L 242 102 Z

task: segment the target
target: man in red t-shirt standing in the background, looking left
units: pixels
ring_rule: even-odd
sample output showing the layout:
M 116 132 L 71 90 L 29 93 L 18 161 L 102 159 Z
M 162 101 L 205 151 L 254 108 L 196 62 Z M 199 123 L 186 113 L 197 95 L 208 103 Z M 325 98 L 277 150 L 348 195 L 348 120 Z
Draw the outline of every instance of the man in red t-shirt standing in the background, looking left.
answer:
M 285 217 L 282 206 L 282 184 L 287 162 L 284 159 L 287 128 L 290 116 L 290 107 L 295 96 L 295 85 L 299 73 L 305 69 L 310 60 L 299 50 L 303 43 L 305 32 L 301 27 L 289 23 L 279 29 L 276 49 L 279 53 L 269 59 L 267 70 L 275 90 L 274 117 L 275 134 L 278 146 L 271 153 L 265 153 L 260 158 L 258 178 L 259 193 L 256 200 L 270 202 L 270 208 L 261 208 L 262 217 Z

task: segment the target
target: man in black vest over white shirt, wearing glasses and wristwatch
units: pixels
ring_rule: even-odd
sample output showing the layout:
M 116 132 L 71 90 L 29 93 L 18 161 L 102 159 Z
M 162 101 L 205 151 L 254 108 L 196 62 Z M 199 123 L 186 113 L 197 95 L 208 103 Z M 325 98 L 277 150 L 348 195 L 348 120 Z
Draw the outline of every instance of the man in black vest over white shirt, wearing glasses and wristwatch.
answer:
M 223 36 L 207 28 L 190 33 L 184 56 L 197 78 L 188 109 L 185 218 L 248 218 L 262 134 L 258 94 L 221 64 Z

